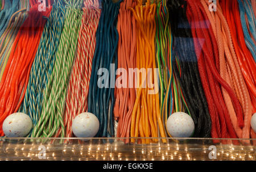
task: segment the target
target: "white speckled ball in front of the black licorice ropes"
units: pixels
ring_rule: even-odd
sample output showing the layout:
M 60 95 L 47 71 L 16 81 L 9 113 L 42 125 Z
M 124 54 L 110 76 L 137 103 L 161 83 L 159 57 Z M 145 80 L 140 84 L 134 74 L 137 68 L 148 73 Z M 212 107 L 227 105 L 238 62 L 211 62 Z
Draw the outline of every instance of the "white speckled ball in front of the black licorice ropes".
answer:
M 191 137 L 194 129 L 193 119 L 184 112 L 176 112 L 167 120 L 167 130 L 172 137 Z

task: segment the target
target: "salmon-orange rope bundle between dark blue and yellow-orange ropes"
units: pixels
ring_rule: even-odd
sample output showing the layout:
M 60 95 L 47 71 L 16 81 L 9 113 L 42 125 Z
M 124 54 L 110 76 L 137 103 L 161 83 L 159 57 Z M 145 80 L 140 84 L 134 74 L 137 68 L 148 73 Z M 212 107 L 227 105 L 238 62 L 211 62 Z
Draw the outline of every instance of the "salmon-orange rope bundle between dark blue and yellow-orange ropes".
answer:
M 114 116 L 118 121 L 117 137 L 129 137 L 131 125 L 131 113 L 135 103 L 135 89 L 133 83 L 133 75 L 129 73 L 129 69 L 135 68 L 136 57 L 136 21 L 133 13 L 128 9 L 134 8 L 136 3 L 133 0 L 124 0 L 120 3 L 118 14 L 117 30 L 119 33 L 118 40 L 118 69 L 122 69 L 117 74 L 118 87 L 115 87 L 115 106 Z M 125 71 L 123 71 L 125 70 Z M 125 75 L 123 73 L 126 73 Z M 120 78 L 118 75 L 124 75 Z M 132 85 L 131 85 L 132 84 Z M 126 139 L 125 142 L 129 142 Z

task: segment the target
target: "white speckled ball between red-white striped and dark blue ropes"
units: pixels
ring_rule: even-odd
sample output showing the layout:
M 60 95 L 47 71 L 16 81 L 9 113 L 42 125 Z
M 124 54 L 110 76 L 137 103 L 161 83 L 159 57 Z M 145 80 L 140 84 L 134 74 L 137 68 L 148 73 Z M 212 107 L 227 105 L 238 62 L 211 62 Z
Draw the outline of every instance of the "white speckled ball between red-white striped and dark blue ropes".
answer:
M 76 137 L 94 137 L 99 128 L 100 121 L 89 112 L 77 115 L 72 123 L 72 131 Z

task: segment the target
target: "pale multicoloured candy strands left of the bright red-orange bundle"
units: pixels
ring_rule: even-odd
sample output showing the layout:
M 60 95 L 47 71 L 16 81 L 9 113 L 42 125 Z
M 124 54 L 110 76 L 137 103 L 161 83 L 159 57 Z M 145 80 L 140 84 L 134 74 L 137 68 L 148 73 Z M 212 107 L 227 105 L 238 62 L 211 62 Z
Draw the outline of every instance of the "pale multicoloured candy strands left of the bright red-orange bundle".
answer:
M 17 2 L 17 1 L 15 1 Z M 15 4 L 13 2 L 13 4 Z M 6 29 L 2 29 L 2 34 L 0 35 L 0 81 L 3 75 L 3 71 L 5 70 L 5 66 L 7 64 L 7 61 L 9 59 L 10 53 L 11 53 L 11 47 L 14 43 L 16 34 L 19 31 L 19 28 L 22 26 L 22 23 L 26 19 L 26 7 L 27 4 L 24 1 L 20 1 L 19 3 L 19 9 L 17 6 L 13 6 L 13 9 L 17 8 L 17 11 L 15 11 L 13 14 L 9 12 L 10 16 L 6 16 L 8 18 L 6 20 Z M 0 12 L 0 18 L 4 18 L 6 15 L 6 11 L 2 10 Z M 5 20 L 5 19 L 3 19 Z M 3 22 L 1 25 L 4 27 Z

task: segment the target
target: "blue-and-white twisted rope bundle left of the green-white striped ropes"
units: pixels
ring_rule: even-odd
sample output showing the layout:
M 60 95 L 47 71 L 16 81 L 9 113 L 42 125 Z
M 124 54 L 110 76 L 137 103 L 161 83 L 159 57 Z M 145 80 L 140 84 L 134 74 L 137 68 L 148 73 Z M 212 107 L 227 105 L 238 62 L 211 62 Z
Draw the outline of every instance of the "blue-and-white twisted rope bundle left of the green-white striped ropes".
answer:
M 63 0 L 55 1 L 40 39 L 26 94 L 19 110 L 30 116 L 34 126 L 42 111 L 43 90 L 55 64 L 55 53 L 63 31 L 64 21 L 65 6 Z

